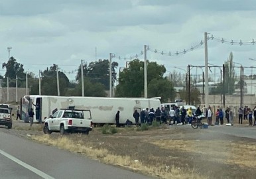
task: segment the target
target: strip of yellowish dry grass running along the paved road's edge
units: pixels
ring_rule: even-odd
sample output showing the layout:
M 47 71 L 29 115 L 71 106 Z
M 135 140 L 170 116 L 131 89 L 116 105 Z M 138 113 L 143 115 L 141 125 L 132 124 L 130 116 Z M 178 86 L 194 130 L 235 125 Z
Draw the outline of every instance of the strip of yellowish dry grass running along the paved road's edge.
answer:
M 123 168 L 128 168 L 129 170 L 133 170 L 136 172 L 142 172 L 144 174 L 148 174 L 151 176 L 157 176 L 159 178 L 195 178 L 201 179 L 206 178 L 206 176 L 202 176 L 194 172 L 194 170 L 190 170 L 189 168 L 186 170 L 181 170 L 177 166 L 166 166 L 162 164 L 157 164 L 153 166 L 149 166 L 147 164 L 143 164 L 141 161 L 136 160 L 136 158 L 131 158 L 130 156 L 119 156 L 112 154 L 107 149 L 103 149 L 100 147 L 94 147 L 92 143 L 83 143 L 81 140 L 81 135 L 76 134 L 78 140 L 71 141 L 68 137 L 58 137 L 58 139 L 54 139 L 50 137 L 50 135 L 42 136 L 33 136 L 32 139 L 34 141 L 38 141 L 40 143 L 45 143 L 47 145 L 53 145 L 60 149 L 66 149 L 71 152 L 77 152 L 84 154 L 86 156 L 90 156 L 90 158 L 94 158 L 100 160 L 101 162 L 105 162 L 107 164 L 113 164 L 116 166 L 121 166 Z M 80 139 L 79 139 L 80 138 Z M 101 145 L 99 143 L 99 145 Z

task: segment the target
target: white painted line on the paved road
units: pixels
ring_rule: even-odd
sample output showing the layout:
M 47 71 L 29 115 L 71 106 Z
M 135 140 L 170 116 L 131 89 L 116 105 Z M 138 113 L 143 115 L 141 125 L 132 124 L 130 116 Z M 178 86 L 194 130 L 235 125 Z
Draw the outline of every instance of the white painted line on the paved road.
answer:
M 14 156 L 11 156 L 11 154 L 7 154 L 7 152 L 4 152 L 3 150 L 0 149 L 0 154 L 3 154 L 3 156 L 6 156 L 7 158 L 13 160 L 13 162 L 16 162 L 17 164 L 20 164 L 21 166 L 31 170 L 31 172 L 34 172 L 35 174 L 37 174 L 38 176 L 41 176 L 42 178 L 46 178 L 46 179 L 54 179 L 52 176 L 49 176 L 48 174 L 32 167 L 29 164 L 26 164 L 25 162 L 19 160 L 18 158 L 15 158 Z

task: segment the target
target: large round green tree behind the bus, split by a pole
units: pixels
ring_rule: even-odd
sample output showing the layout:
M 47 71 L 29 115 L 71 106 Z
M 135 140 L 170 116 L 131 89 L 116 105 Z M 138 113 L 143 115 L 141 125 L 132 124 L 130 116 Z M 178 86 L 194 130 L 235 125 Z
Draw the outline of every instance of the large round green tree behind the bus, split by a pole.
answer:
M 172 86 L 166 78 L 163 77 L 166 69 L 157 62 L 147 62 L 147 80 L 149 88 L 149 97 L 154 95 L 163 95 L 162 101 L 168 100 L 166 97 L 172 98 Z M 164 84 L 166 82 L 167 84 Z M 164 88 L 166 85 L 166 88 Z M 171 87 L 170 87 L 171 86 Z M 154 89 L 160 89 L 158 92 Z M 166 91 L 162 91 L 166 90 Z M 171 90 L 171 91 L 169 91 Z M 170 93 L 170 95 L 166 95 Z M 135 59 L 129 62 L 129 67 L 119 73 L 119 84 L 116 91 L 117 97 L 142 97 L 144 96 L 144 62 Z

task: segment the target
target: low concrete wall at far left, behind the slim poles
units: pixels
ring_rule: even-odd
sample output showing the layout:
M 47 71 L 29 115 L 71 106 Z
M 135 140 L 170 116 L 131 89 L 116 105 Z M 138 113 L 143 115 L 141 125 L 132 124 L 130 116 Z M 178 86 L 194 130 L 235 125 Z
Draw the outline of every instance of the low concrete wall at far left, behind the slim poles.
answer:
M 1 103 L 7 103 L 14 101 L 16 102 L 16 88 L 15 87 L 9 87 L 9 101 L 7 101 L 7 88 L 4 87 L 2 88 L 2 95 L 0 95 L 0 102 Z M 18 88 L 18 100 L 17 102 L 19 103 L 21 100 L 21 97 L 26 95 L 26 88 Z

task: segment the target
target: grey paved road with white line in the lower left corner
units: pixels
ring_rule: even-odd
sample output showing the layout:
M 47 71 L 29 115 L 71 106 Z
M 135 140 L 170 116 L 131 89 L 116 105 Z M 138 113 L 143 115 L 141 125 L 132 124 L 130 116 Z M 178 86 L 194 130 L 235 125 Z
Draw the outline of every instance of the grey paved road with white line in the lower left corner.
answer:
M 150 178 L 2 130 L 5 129 L 0 129 L 0 178 Z

